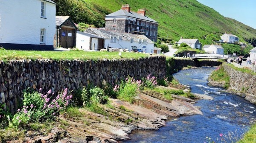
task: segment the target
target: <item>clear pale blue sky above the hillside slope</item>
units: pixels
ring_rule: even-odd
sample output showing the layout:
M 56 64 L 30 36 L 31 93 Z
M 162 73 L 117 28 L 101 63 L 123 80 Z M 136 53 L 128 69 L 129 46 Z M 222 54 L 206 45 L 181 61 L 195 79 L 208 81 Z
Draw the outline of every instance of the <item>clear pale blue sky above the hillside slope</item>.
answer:
M 224 17 L 233 18 L 256 29 L 256 0 L 197 0 Z

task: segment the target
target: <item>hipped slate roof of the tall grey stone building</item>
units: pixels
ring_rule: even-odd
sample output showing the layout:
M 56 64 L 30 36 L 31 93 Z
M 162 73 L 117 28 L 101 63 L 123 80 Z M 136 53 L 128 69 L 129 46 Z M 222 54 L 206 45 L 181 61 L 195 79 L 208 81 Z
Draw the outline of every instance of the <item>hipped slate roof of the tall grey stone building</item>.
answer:
M 124 9 L 120 9 L 116 12 L 113 12 L 111 14 L 108 14 L 106 15 L 105 17 L 124 17 L 124 16 L 127 16 L 127 17 L 133 17 L 133 18 L 137 18 L 137 19 L 141 19 L 141 20 L 147 20 L 147 21 L 151 21 L 151 22 L 157 22 L 153 19 L 151 19 L 150 17 L 148 16 L 143 16 L 141 14 L 138 14 L 137 12 L 134 12 L 134 11 L 126 11 Z M 158 23 L 158 22 L 157 22 Z

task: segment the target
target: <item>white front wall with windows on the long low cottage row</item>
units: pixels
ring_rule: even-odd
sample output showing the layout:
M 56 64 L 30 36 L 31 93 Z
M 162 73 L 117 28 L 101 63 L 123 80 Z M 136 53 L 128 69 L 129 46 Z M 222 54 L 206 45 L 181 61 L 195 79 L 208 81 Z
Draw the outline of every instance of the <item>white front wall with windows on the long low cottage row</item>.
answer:
M 143 40 L 142 40 L 143 41 Z M 136 40 L 134 40 L 133 43 L 131 43 L 130 40 L 121 40 L 119 41 L 118 37 L 116 39 L 116 42 L 111 42 L 111 39 L 105 39 L 105 48 L 106 47 L 111 48 L 122 48 L 122 49 L 128 49 L 129 51 L 132 50 L 131 46 L 137 46 L 137 49 L 141 49 L 145 51 L 145 53 L 153 53 L 154 52 L 154 43 L 147 42 L 147 44 L 139 43 Z M 145 48 L 143 48 L 145 46 Z

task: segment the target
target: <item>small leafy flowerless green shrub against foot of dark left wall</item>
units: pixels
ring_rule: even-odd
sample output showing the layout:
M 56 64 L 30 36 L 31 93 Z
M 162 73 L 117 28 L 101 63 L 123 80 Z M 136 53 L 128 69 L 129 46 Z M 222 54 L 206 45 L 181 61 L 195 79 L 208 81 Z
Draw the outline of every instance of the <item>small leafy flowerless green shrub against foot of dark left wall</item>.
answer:
M 90 89 L 90 101 L 92 103 L 105 104 L 108 101 L 108 96 L 99 87 L 93 87 Z

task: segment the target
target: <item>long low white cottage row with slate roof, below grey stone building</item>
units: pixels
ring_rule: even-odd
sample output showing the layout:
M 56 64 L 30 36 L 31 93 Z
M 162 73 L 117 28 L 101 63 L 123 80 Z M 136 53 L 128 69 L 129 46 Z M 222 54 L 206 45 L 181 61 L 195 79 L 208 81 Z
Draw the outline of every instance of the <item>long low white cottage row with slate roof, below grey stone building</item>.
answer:
M 160 53 L 160 48 L 154 48 L 154 42 L 148 37 L 99 28 L 88 28 L 77 33 L 77 48 L 82 50 L 99 50 L 101 48 L 119 48 L 128 51 L 145 53 Z

